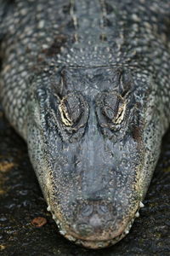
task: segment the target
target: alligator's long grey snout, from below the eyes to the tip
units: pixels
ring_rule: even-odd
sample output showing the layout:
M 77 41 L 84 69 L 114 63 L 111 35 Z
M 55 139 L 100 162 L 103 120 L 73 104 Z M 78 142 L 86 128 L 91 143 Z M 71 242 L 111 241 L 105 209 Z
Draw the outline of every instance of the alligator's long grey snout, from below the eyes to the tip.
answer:
M 62 149 L 52 177 L 60 233 L 88 248 L 121 240 L 139 208 L 136 143 L 112 143 L 93 124 L 80 143 Z

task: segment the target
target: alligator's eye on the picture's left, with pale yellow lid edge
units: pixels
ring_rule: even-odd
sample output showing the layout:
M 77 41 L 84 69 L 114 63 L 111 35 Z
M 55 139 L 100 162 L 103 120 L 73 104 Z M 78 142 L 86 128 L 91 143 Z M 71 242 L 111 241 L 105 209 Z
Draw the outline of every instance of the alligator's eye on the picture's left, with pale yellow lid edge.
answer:
M 70 93 L 59 104 L 59 113 L 63 124 L 66 126 L 76 125 L 83 113 L 83 107 L 79 96 Z

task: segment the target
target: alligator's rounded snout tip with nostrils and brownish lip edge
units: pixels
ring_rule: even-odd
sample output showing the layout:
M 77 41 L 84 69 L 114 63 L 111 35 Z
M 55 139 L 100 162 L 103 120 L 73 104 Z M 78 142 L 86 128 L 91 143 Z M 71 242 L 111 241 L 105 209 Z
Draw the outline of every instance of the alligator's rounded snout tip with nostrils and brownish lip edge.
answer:
M 132 227 L 134 218 L 116 218 L 111 207 L 93 203 L 79 207 L 74 224 L 65 233 L 65 238 L 83 247 L 99 249 L 122 240 Z M 60 232 L 62 235 L 62 230 Z

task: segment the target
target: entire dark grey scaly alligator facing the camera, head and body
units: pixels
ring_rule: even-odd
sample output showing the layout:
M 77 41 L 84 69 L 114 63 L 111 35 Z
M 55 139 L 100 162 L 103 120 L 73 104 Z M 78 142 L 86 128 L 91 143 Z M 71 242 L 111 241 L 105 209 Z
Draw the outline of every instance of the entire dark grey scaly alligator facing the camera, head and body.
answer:
M 6 116 L 62 235 L 130 230 L 170 113 L 169 0 L 0 1 Z

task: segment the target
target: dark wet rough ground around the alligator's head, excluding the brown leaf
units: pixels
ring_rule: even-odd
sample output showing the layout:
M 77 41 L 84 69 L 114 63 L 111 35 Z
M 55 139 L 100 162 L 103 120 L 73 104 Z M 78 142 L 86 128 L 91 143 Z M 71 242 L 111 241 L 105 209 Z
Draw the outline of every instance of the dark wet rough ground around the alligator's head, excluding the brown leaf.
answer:
M 46 210 L 26 144 L 0 108 L 0 255 L 170 255 L 170 131 L 144 204 L 130 234 L 114 247 L 90 251 L 66 241 Z M 37 217 L 48 223 L 34 227 Z

